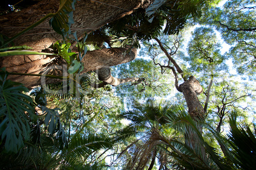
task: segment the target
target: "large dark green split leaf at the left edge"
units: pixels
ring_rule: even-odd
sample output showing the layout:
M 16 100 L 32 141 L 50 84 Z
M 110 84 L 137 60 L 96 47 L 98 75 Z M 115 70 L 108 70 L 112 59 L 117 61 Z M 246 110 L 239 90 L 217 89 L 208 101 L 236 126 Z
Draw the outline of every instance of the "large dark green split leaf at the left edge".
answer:
M 32 98 L 20 83 L 6 80 L 7 72 L 0 71 L 0 136 L 6 152 L 18 152 L 29 140 L 29 117 L 36 121 Z M 29 117 L 28 117 L 29 116 Z

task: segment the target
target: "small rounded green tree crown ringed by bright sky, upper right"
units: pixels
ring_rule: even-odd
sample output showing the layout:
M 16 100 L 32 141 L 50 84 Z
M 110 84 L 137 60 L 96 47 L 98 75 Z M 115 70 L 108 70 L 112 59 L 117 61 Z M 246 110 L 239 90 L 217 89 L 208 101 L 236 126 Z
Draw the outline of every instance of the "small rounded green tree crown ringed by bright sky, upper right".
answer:
M 206 27 L 199 27 L 194 30 L 193 39 L 188 42 L 187 61 L 191 70 L 196 72 L 204 71 L 206 74 L 225 70 L 225 56 L 220 54 L 220 42 L 214 30 Z

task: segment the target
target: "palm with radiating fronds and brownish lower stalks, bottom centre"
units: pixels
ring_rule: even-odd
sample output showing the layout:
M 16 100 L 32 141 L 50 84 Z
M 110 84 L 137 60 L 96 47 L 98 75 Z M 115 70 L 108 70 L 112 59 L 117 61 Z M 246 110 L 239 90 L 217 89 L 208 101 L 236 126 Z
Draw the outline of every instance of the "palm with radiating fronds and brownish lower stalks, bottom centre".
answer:
M 170 128 L 169 115 L 173 113 L 185 115 L 185 110 L 178 105 L 155 107 L 153 101 L 148 100 L 145 105 L 136 104 L 133 110 L 120 114 L 130 124 L 118 131 L 116 140 L 131 137 L 134 140 L 120 154 L 131 154 L 126 169 L 153 169 L 156 165 L 167 169 L 169 165 L 176 166 L 177 161 L 172 159 L 174 154 L 171 150 L 178 150 L 174 143 L 181 145 L 184 135 Z

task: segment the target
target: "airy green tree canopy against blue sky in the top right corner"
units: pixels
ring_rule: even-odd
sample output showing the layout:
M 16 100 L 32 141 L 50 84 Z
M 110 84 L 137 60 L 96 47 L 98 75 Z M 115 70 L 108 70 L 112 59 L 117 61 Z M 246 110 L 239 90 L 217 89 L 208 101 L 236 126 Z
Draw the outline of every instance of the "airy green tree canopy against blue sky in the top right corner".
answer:
M 239 74 L 254 79 L 255 72 L 255 2 L 249 0 L 227 1 L 223 8 L 206 11 L 200 23 L 212 25 L 220 31 L 225 43 L 231 47 L 232 57 Z

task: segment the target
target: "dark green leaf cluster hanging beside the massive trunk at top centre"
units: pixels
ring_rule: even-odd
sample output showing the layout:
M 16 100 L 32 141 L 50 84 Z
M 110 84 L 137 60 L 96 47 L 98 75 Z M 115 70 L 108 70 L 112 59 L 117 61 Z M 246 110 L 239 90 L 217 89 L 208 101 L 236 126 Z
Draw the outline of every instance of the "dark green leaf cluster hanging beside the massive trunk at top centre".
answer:
M 201 15 L 203 6 L 203 0 L 154 1 L 146 10 L 138 9 L 106 25 L 106 28 L 113 36 L 148 41 L 159 36 L 162 27 L 165 27 L 164 34 L 178 34 L 188 18 Z M 138 47 L 138 42 L 135 47 Z

